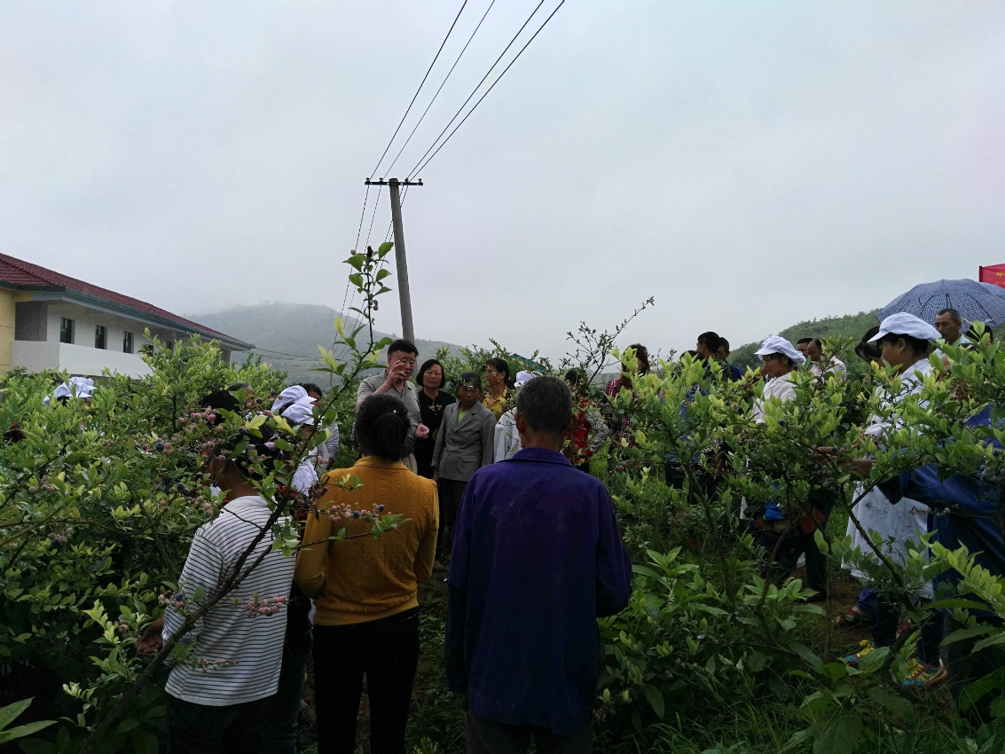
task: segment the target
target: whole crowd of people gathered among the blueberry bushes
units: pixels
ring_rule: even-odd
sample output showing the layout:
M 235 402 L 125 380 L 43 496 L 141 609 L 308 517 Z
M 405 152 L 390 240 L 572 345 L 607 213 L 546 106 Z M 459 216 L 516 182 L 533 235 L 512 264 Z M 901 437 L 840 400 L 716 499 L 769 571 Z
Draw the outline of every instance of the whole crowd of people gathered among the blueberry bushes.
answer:
M 964 337 L 954 314 L 940 314 L 946 315 L 940 330 L 911 315 L 893 315 L 866 333 L 855 352 L 894 367 L 917 391 L 932 368 L 927 357 L 934 344 Z M 698 336 L 691 352 L 707 365 L 718 362 L 725 379 L 740 379 L 729 355 L 729 343 L 714 332 Z M 795 397 L 797 370 L 838 380 L 847 372 L 815 338 L 793 345 L 773 336 L 757 355 L 764 386 L 754 422 L 766 420 L 769 401 Z M 319 751 L 355 751 L 365 687 L 371 751 L 404 752 L 420 653 L 418 584 L 434 573 L 447 584 L 444 667 L 450 689 L 465 700 L 467 751 L 523 752 L 532 739 L 538 751 L 592 750 L 601 651 L 596 619 L 628 603 L 631 563 L 611 497 L 589 474 L 591 456 L 611 437 L 630 442 L 632 415 L 625 406 L 631 404 L 633 380 L 651 369 L 648 352 L 641 344 L 625 351 L 624 361 L 633 368 L 624 366 L 607 384 L 610 400 L 604 405 L 590 397 L 577 370 L 564 379 L 523 371 L 511 379 L 510 365 L 498 358 L 488 360 L 482 374 L 462 372 L 450 393 L 436 359 L 423 363 L 412 380 L 417 356 L 414 344 L 395 341 L 386 370 L 361 381 L 355 464 L 331 467 L 338 455 L 337 426 L 327 429 L 323 442 L 311 442 L 316 447 L 291 477 L 300 505 L 282 512 L 305 521 L 295 561 L 272 547 L 274 516 L 255 488 L 255 459 L 282 458 L 274 422 L 260 436 L 237 435 L 214 450 L 208 470 L 225 504 L 195 534 L 181 599 L 138 642 L 150 650 L 188 630 L 182 641 L 192 645 L 196 659 L 176 664 L 167 683 L 172 752 L 294 752 L 312 653 Z M 55 399 L 93 389 L 83 383 L 64 387 Z M 220 390 L 205 404 L 218 412 L 242 411 L 235 392 L 245 387 Z M 321 400 L 317 385 L 294 385 L 275 398 L 269 414 L 309 436 L 317 431 Z M 877 437 L 887 429 L 878 419 L 869 426 Z M 821 448 L 821 462 L 832 459 L 828 451 Z M 843 462 L 867 476 L 868 459 Z M 673 468 L 679 470 L 675 459 L 667 462 L 667 483 L 680 484 Z M 1003 574 L 1005 545 L 997 530 L 952 518 L 965 507 L 961 501 L 983 500 L 972 484 L 941 479 L 931 469 L 906 474 L 856 495 L 859 526 L 849 522 L 848 533 L 865 550 L 863 533 L 877 532 L 880 541 L 872 544 L 901 563 L 923 535 L 935 534 L 950 547 L 977 542 L 984 546 L 982 564 Z M 787 575 L 796 558 L 805 556 L 811 599 L 827 595 L 826 559 L 812 529 L 826 526 L 839 491 L 822 488 L 813 495 L 813 523 L 796 547 L 780 548 L 771 539 L 791 524 L 784 506 L 769 505 L 750 519 L 751 530 L 765 537 L 766 550 L 776 558 L 774 577 Z M 950 498 L 955 508 L 947 504 Z M 401 517 L 400 523 L 372 536 L 385 514 Z M 255 565 L 235 584 L 246 562 Z M 189 625 L 184 605 L 222 588 L 231 589 L 228 599 Z M 932 596 L 931 584 L 918 594 Z M 269 619 L 280 608 L 284 619 Z M 941 613 L 931 614 L 903 679 L 909 687 L 947 677 L 940 657 Z M 863 589 L 838 623 L 866 619 L 873 623 L 871 640 L 844 658 L 848 665 L 893 643 L 899 606 L 886 594 Z M 237 662 L 214 664 L 225 656 Z

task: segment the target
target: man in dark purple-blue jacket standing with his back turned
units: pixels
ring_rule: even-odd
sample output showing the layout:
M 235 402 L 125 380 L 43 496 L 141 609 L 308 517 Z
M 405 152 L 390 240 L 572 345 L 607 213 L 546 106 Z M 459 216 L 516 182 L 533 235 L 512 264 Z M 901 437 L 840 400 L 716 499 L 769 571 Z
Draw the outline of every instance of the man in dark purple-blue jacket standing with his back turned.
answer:
M 517 398 L 524 447 L 479 468 L 450 561 L 446 673 L 467 695 L 467 751 L 588 752 L 597 617 L 628 604 L 631 561 L 606 488 L 562 455 L 572 393 L 557 377 Z

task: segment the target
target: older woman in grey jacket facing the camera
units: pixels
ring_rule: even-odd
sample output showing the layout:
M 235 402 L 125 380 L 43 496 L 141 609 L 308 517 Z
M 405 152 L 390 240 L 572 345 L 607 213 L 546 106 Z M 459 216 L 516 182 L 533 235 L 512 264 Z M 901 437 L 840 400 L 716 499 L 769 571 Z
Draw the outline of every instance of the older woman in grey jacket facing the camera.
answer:
M 495 415 L 480 398 L 481 378 L 476 372 L 464 372 L 457 383 L 457 402 L 443 409 L 432 460 L 440 506 L 437 558 L 442 555 L 444 530 L 453 530 L 468 480 L 495 459 Z

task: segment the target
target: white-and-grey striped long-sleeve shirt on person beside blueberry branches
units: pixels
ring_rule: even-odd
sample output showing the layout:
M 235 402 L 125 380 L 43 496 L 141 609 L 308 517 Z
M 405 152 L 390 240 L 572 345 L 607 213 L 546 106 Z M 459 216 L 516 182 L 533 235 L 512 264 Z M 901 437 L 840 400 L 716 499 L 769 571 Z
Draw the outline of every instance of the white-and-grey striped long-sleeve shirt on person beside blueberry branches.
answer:
M 222 587 L 268 518 L 264 498 L 243 497 L 227 503 L 219 516 L 199 527 L 180 579 L 188 609 L 198 606 L 192 601 L 197 589 L 202 588 L 203 598 L 208 599 Z M 245 566 L 271 547 L 272 536 L 266 534 Z M 254 702 L 274 694 L 279 682 L 286 612 L 282 609 L 272 615 L 249 616 L 247 604 L 256 597 L 288 596 L 292 578 L 293 559 L 278 550 L 268 552 L 247 578 L 182 638 L 183 643 L 194 642 L 195 647 L 189 662 L 172 669 L 168 694 L 210 707 Z M 165 640 L 181 628 L 184 620 L 173 607 L 167 610 Z M 197 665 L 200 661 L 205 662 L 204 666 Z

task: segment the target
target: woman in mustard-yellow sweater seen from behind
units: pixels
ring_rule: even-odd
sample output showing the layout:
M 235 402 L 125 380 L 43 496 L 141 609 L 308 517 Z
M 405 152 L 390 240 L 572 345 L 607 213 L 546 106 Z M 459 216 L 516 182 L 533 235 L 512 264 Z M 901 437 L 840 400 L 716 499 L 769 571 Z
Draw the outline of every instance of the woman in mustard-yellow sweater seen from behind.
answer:
M 410 472 L 408 412 L 396 396 L 375 393 L 360 406 L 363 457 L 329 472 L 309 514 L 294 578 L 315 600 L 315 704 L 318 751 L 356 750 L 363 677 L 370 700 L 370 750 L 405 751 L 405 723 L 419 657 L 418 582 L 436 550 L 436 484 Z M 356 477 L 361 487 L 336 483 Z M 366 519 L 386 511 L 404 521 L 374 539 Z M 354 512 L 356 515 L 354 515 Z M 341 529 L 343 542 L 333 542 Z

